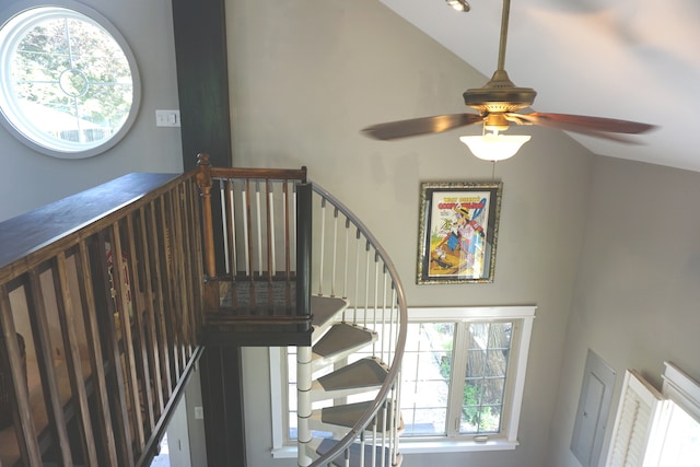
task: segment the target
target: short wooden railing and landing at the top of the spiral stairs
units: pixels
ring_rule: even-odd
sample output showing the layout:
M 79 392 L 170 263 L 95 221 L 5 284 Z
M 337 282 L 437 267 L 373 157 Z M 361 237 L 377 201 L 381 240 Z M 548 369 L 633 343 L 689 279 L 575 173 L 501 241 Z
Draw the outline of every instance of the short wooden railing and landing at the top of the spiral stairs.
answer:
M 311 339 L 311 185 L 306 170 L 211 167 L 199 154 L 203 341 L 296 346 Z

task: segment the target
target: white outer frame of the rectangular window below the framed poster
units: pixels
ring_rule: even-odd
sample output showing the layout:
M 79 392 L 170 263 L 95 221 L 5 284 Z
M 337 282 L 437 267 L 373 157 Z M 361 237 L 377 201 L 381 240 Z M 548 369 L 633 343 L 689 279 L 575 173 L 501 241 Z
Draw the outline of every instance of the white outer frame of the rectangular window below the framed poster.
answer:
M 443 322 L 516 322 L 518 338 L 512 342 L 515 359 L 509 361 L 506 401 L 503 409 L 503 428 L 499 435 L 470 435 L 460 437 L 430 436 L 402 437 L 400 451 L 410 453 L 448 453 L 509 451 L 518 445 L 517 430 L 525 387 L 525 374 L 529 342 L 533 331 L 534 305 L 480 306 L 480 307 L 413 307 L 408 310 L 409 323 Z M 296 456 L 296 446 L 284 444 L 289 432 L 287 407 L 287 359 L 281 348 L 270 348 L 270 386 L 272 415 L 272 456 L 289 458 Z

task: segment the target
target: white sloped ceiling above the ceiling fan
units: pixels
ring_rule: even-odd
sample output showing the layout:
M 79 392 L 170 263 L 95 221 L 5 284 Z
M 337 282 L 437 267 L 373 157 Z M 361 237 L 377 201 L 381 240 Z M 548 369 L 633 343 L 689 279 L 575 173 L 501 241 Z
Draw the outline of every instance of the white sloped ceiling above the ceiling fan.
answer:
M 469 0 L 468 13 L 381 1 L 487 77 L 495 70 L 501 0 Z M 640 144 L 570 133 L 592 152 L 700 172 L 700 1 L 512 0 L 505 70 L 537 91 L 534 110 L 658 126 Z

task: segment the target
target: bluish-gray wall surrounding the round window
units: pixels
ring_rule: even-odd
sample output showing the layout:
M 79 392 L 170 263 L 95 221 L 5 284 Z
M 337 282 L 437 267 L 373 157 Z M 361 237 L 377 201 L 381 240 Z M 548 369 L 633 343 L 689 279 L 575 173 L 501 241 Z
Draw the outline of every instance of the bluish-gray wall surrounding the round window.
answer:
M 140 67 L 142 102 L 130 132 L 90 159 L 36 153 L 0 127 L 0 221 L 131 172 L 179 173 L 179 128 L 156 128 L 156 108 L 177 108 L 175 45 L 170 0 L 84 0 L 124 35 Z M 3 0 L 0 12 L 28 0 Z

